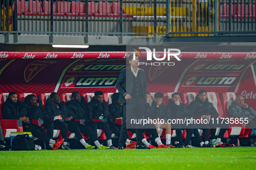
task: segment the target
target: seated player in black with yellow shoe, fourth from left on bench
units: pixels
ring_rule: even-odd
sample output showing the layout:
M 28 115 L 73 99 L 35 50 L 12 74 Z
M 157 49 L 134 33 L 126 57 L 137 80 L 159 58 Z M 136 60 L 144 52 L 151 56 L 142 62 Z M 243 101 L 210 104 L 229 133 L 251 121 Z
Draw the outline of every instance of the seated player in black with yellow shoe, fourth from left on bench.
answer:
M 97 139 L 97 124 L 91 121 L 89 118 L 89 108 L 84 97 L 81 97 L 81 95 L 77 91 L 74 91 L 71 94 L 71 98 L 72 100 L 65 103 L 66 107 L 73 111 L 76 119 L 85 120 L 85 125 L 78 123 L 80 131 L 89 135 L 91 142 L 93 142 L 97 146 L 97 149 L 109 149 L 109 147 L 107 146 L 100 145 L 100 142 Z M 94 146 L 92 146 L 92 148 L 94 148 Z

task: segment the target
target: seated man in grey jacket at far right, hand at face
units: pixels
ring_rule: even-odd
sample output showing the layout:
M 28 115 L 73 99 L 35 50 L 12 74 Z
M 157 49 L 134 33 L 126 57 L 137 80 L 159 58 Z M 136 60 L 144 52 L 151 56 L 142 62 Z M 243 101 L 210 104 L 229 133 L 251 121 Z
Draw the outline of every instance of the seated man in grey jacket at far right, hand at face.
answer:
M 228 115 L 230 117 L 243 117 L 248 118 L 247 126 L 256 129 L 256 111 L 248 104 L 244 103 L 244 98 L 241 95 L 237 95 L 236 100 L 232 101 L 228 108 Z

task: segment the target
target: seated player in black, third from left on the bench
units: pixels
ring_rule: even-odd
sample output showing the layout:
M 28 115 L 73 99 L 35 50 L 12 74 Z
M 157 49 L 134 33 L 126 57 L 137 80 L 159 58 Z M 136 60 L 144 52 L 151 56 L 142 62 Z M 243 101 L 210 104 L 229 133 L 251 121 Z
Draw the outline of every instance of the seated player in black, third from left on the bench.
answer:
M 62 145 L 62 149 L 70 150 L 71 148 L 68 146 L 68 130 L 71 133 L 75 133 L 76 138 L 79 142 L 84 145 L 86 149 L 92 149 L 93 146 L 87 144 L 81 135 L 80 129 L 78 127 L 78 122 L 74 122 L 71 120 L 75 120 L 75 114 L 72 110 L 69 110 L 64 101 L 60 101 L 60 95 L 58 93 L 53 92 L 50 97 L 45 102 L 45 111 L 46 114 L 54 120 L 54 129 L 64 129 L 62 132 L 62 137 L 65 136 L 65 140 Z M 61 122 L 60 120 L 64 119 L 65 122 Z M 68 129 L 66 129 L 68 127 Z

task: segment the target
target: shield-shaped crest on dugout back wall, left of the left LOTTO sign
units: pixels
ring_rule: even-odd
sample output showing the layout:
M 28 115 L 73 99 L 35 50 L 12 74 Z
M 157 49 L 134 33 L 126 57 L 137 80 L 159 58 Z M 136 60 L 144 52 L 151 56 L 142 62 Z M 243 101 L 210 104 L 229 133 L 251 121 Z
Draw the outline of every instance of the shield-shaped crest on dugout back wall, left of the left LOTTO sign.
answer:
M 26 82 L 29 82 L 43 68 L 45 68 L 46 66 L 49 66 L 53 63 L 56 63 L 56 62 L 57 61 L 49 61 L 49 60 L 39 61 L 39 60 L 36 60 L 36 61 L 30 63 L 24 71 L 24 79 L 26 80 Z

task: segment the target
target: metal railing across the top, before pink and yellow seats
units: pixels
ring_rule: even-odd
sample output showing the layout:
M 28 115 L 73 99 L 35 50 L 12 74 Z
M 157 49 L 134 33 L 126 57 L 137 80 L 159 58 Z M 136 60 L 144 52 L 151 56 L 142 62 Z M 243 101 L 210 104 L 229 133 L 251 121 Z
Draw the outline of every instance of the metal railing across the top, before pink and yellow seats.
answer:
M 14 34 L 14 41 L 19 34 L 49 35 L 50 43 L 53 35 L 88 38 L 256 34 L 256 0 L 1 2 L 0 34 Z

